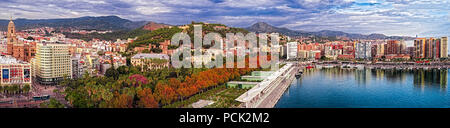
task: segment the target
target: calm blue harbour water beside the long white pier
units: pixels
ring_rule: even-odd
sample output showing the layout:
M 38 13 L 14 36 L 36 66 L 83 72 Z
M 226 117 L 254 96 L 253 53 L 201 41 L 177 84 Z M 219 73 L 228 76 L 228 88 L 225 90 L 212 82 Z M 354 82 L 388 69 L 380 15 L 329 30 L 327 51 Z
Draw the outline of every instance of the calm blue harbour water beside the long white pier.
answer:
M 448 70 L 311 69 L 277 108 L 450 108 Z

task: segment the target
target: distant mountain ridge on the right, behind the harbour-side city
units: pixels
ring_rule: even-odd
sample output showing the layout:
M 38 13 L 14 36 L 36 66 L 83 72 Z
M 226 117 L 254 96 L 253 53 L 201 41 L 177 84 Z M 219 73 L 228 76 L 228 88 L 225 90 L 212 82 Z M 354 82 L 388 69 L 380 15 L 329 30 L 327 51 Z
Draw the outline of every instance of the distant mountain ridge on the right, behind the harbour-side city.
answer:
M 370 35 L 363 35 L 363 34 L 353 34 L 353 33 L 346 33 L 342 31 L 331 31 L 331 30 L 322 30 L 318 32 L 307 32 L 307 31 L 301 31 L 301 30 L 290 30 L 288 28 L 278 28 L 272 25 L 269 25 L 265 22 L 258 22 L 253 24 L 250 27 L 245 28 L 248 31 L 256 32 L 256 33 L 271 33 L 271 32 L 277 32 L 283 35 L 287 36 L 320 36 L 320 37 L 348 37 L 350 39 L 404 39 L 404 40 L 411 40 L 414 39 L 413 37 L 407 37 L 407 36 L 386 36 L 384 34 L 370 34 Z

